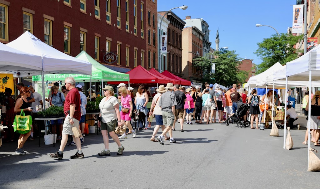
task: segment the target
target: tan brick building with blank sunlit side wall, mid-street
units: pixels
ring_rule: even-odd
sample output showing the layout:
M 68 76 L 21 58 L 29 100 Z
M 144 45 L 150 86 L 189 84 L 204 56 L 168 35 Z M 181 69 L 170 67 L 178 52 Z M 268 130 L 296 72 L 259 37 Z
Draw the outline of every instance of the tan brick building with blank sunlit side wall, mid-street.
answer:
M 193 65 L 193 59 L 203 56 L 204 34 L 195 26 L 185 26 L 182 30 L 182 74 L 193 84 L 201 83 L 202 70 Z

